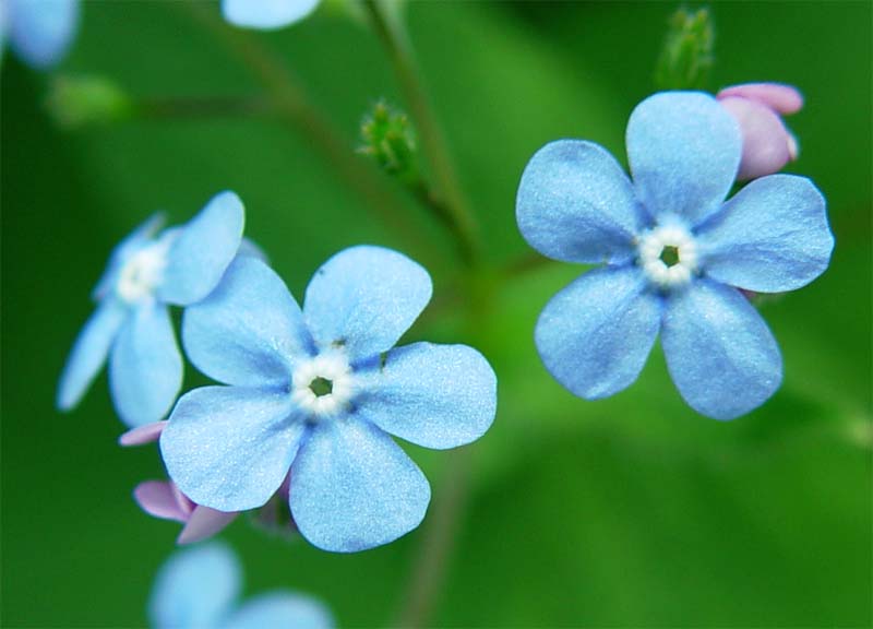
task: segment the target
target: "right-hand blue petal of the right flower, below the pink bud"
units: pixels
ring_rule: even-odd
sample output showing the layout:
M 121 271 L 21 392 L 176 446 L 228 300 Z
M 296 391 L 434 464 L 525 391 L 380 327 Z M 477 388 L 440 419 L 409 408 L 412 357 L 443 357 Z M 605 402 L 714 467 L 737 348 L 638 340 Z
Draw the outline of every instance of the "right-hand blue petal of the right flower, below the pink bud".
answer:
M 760 293 L 809 284 L 834 250 L 824 197 L 793 175 L 749 183 L 701 228 L 698 242 L 707 275 Z

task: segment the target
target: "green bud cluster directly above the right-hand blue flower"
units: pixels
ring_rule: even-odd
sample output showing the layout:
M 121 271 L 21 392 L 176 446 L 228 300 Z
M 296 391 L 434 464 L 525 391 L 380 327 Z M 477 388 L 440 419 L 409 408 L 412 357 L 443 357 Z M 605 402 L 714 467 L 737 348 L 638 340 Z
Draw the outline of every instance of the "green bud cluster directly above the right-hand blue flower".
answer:
M 715 27 L 708 9 L 678 9 L 668 23 L 655 85 L 658 90 L 699 90 L 705 87 L 715 60 Z

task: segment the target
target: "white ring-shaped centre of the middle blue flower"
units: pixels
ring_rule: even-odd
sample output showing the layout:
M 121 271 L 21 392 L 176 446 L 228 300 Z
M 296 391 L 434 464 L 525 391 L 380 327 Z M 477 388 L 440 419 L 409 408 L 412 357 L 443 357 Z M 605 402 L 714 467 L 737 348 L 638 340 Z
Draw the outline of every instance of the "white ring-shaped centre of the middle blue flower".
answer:
M 312 419 L 335 416 L 348 407 L 355 378 L 342 352 L 328 352 L 297 366 L 291 376 L 291 399 Z

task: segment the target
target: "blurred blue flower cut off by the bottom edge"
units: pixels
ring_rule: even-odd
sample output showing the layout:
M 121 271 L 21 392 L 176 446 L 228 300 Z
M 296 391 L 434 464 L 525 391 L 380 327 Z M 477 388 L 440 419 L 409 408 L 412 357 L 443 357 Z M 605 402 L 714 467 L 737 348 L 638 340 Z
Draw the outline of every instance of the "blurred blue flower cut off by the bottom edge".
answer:
M 239 561 L 222 544 L 176 553 L 155 580 L 148 616 L 155 629 L 328 629 L 330 612 L 309 596 L 262 594 L 238 606 Z

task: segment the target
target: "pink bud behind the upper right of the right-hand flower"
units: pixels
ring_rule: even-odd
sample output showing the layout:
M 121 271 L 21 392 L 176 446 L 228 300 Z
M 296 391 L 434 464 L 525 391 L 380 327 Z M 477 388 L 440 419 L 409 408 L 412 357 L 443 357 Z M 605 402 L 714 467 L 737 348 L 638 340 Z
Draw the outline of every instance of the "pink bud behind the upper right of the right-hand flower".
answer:
M 737 179 L 778 173 L 798 157 L 798 142 L 780 114 L 803 107 L 803 96 L 790 85 L 745 83 L 721 90 L 716 98 L 734 117 L 743 134 L 743 155 Z

